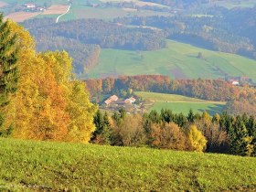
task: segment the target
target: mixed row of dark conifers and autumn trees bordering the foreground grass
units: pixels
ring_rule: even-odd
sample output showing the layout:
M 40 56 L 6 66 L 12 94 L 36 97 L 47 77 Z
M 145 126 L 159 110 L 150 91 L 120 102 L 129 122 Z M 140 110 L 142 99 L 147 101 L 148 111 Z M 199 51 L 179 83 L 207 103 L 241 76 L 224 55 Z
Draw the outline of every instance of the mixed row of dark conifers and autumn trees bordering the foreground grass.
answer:
M 152 111 L 143 116 L 127 115 L 124 110 L 109 116 L 98 111 L 94 116 L 94 144 L 149 146 L 232 155 L 256 155 L 256 119 L 253 116 L 230 116 L 227 113 L 210 117 L 190 111 L 173 113 Z

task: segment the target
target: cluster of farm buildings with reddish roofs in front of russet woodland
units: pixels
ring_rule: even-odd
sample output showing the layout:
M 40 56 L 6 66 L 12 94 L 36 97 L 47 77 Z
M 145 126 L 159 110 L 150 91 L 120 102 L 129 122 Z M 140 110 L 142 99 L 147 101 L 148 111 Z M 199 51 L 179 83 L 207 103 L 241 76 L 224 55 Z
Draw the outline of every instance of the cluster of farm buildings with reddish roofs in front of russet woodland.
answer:
M 131 105 L 135 101 L 136 101 L 136 99 L 133 98 L 133 97 L 130 97 L 130 98 L 125 99 L 125 100 L 121 100 L 116 95 L 112 95 L 106 101 L 103 102 L 103 105 L 106 106 L 106 107 L 109 107 L 109 106 L 118 107 L 118 106 L 124 106 L 124 105 Z

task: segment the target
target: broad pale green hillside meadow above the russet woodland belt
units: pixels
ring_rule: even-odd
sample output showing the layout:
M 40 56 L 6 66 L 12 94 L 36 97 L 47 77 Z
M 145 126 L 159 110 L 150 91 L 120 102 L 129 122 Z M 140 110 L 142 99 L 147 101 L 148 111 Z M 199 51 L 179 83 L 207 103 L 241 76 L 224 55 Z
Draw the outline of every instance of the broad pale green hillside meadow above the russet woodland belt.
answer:
M 197 58 L 199 52 L 202 59 Z M 99 64 L 88 74 L 90 78 L 161 74 L 173 79 L 218 79 L 229 74 L 256 81 L 256 60 L 168 40 L 167 48 L 155 51 L 102 49 Z

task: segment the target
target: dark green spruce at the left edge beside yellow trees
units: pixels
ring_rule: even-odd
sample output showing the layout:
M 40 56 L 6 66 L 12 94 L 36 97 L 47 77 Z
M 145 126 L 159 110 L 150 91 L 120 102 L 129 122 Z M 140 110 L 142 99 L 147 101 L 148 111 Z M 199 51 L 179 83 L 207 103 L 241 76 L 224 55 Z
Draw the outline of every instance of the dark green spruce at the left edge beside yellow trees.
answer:
M 5 122 L 3 108 L 9 102 L 10 94 L 17 90 L 16 36 L 12 35 L 8 21 L 0 14 L 0 126 Z

